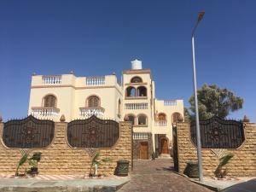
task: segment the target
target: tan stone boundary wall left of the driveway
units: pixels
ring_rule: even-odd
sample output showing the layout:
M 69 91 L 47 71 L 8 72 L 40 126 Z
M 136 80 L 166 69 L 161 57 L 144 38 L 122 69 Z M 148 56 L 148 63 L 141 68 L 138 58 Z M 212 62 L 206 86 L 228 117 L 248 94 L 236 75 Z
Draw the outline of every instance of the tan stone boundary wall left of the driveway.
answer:
M 55 137 L 47 148 L 31 149 L 41 152 L 42 159 L 38 162 L 39 174 L 88 175 L 90 170 L 90 155 L 81 148 L 71 148 L 67 144 L 67 123 L 55 123 Z M 20 148 L 6 148 L 3 144 L 3 123 L 0 123 L 0 174 L 14 174 L 20 160 Z M 131 123 L 119 122 L 119 140 L 112 148 L 99 149 L 100 157 L 109 157 L 111 161 L 102 163 L 98 173 L 113 175 L 117 160 L 130 160 L 131 168 Z M 24 172 L 26 166 L 20 167 Z

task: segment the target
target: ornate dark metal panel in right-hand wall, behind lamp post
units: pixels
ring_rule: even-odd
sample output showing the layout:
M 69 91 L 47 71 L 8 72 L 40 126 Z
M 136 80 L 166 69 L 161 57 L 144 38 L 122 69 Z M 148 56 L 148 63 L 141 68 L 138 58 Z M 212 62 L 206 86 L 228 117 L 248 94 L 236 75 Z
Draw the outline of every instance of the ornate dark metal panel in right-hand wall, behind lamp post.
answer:
M 196 145 L 196 125 L 190 125 L 191 140 Z M 211 119 L 200 121 L 202 148 L 238 148 L 245 137 L 243 124 L 236 120 Z

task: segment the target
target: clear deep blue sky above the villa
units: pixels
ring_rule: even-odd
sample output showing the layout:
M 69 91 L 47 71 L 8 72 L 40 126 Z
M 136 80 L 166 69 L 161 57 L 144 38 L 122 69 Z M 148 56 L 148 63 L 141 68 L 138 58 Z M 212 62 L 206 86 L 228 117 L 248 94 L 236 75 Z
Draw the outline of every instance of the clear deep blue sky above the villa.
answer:
M 32 73 L 117 73 L 130 61 L 151 68 L 159 99 L 193 94 L 191 30 L 197 13 L 198 86 L 218 84 L 244 98 L 231 113 L 256 121 L 256 1 L 0 2 L 0 114 L 26 116 Z

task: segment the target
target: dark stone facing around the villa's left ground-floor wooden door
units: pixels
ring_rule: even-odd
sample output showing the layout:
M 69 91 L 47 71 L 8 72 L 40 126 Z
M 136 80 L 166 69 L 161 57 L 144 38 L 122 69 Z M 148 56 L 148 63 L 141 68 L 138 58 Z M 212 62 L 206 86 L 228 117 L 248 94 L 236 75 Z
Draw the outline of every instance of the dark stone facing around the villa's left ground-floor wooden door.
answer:
M 133 140 L 132 142 L 132 151 L 133 151 L 133 159 L 140 159 L 140 146 L 142 142 L 148 143 L 148 159 L 151 159 L 151 155 L 153 153 L 153 142 L 152 142 L 152 134 L 148 133 L 148 139 L 138 139 Z

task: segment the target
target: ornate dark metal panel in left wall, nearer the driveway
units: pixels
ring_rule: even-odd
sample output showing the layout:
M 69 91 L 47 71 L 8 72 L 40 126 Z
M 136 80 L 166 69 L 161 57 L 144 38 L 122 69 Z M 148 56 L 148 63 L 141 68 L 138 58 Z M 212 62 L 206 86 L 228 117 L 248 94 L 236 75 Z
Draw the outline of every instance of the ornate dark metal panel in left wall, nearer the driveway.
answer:
M 67 141 L 73 148 L 110 148 L 118 138 L 119 123 L 95 115 L 67 125 Z

